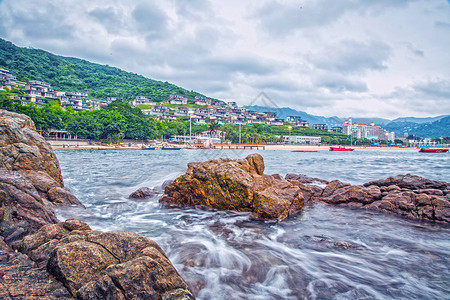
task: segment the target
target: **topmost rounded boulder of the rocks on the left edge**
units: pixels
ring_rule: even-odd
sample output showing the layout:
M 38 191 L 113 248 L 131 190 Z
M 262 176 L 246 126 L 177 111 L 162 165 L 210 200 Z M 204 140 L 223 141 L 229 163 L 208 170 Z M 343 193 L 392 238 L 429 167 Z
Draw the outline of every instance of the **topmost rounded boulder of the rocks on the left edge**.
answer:
M 25 115 L 2 109 L 0 168 L 42 171 L 63 186 L 58 159 L 51 146 L 36 132 L 33 121 Z

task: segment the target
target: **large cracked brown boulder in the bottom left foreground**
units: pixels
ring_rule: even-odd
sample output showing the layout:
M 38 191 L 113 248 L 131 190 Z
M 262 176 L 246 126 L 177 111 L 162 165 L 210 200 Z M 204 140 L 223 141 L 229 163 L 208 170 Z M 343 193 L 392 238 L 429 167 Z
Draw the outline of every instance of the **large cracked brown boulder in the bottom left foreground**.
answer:
M 52 288 L 66 287 L 66 296 L 194 299 L 164 251 L 154 241 L 135 233 L 93 231 L 87 224 L 71 219 L 43 226 L 14 248 L 23 253 L 23 259 L 28 259 L 29 268 L 48 271 L 41 276 L 46 275 L 49 282 L 56 284 Z M 27 280 L 29 289 L 36 288 L 31 278 L 24 278 L 22 285 Z

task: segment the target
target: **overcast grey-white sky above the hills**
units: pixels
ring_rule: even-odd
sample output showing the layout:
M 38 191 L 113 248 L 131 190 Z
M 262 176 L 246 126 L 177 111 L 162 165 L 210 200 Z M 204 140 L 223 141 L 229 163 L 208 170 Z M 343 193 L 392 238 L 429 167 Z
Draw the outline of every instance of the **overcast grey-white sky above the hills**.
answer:
M 448 0 L 0 0 L 0 37 L 240 105 L 450 114 Z

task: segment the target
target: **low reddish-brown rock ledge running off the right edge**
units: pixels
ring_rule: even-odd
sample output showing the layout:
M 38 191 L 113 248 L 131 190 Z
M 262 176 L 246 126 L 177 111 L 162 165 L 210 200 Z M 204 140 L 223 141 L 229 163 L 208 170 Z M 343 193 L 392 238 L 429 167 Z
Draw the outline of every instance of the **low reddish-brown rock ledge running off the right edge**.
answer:
M 333 180 L 314 195 L 316 201 L 334 205 L 361 207 L 410 219 L 450 222 L 450 183 L 410 174 L 359 186 Z

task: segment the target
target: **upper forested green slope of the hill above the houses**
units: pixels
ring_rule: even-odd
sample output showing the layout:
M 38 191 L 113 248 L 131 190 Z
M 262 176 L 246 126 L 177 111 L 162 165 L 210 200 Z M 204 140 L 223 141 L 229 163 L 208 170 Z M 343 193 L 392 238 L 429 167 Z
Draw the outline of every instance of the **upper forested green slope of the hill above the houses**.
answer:
M 17 47 L 3 39 L 0 39 L 0 68 L 9 70 L 19 81 L 45 81 L 56 90 L 88 92 L 89 98 L 95 99 L 113 96 L 132 100 L 136 96 L 151 96 L 161 102 L 171 94 L 185 95 L 188 99 L 201 95 L 107 65 Z

